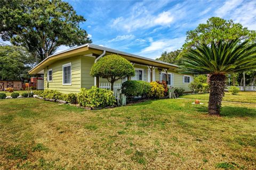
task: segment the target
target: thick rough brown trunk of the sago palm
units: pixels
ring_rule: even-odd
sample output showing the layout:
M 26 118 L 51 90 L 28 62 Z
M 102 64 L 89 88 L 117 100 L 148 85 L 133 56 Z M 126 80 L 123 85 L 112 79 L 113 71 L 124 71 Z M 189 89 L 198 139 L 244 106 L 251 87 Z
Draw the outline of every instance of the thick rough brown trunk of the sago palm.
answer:
M 224 93 L 226 76 L 223 74 L 213 74 L 210 77 L 210 97 L 208 112 L 210 115 L 220 115 L 221 101 Z

